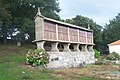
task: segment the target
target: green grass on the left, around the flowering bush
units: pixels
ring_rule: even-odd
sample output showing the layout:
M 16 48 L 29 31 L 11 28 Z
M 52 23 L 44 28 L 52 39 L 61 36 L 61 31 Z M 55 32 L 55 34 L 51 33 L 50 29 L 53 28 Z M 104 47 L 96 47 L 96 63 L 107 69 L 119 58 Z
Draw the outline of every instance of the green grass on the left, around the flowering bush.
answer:
M 68 80 L 64 76 L 56 76 L 54 70 L 26 67 L 25 54 L 27 47 L 0 45 L 0 80 Z M 69 80 L 96 80 L 96 78 L 70 77 Z

